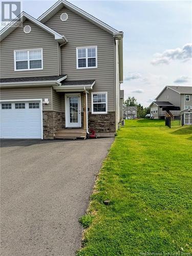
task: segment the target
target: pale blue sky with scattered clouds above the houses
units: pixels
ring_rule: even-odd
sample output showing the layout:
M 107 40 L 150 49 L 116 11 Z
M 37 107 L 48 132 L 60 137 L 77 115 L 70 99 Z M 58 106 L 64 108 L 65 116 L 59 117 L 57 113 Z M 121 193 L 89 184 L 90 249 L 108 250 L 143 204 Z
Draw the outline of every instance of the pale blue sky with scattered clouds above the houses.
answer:
M 192 86 L 192 1 L 69 1 L 123 31 L 124 99 L 150 105 L 166 85 Z M 37 18 L 56 1 L 23 1 Z

